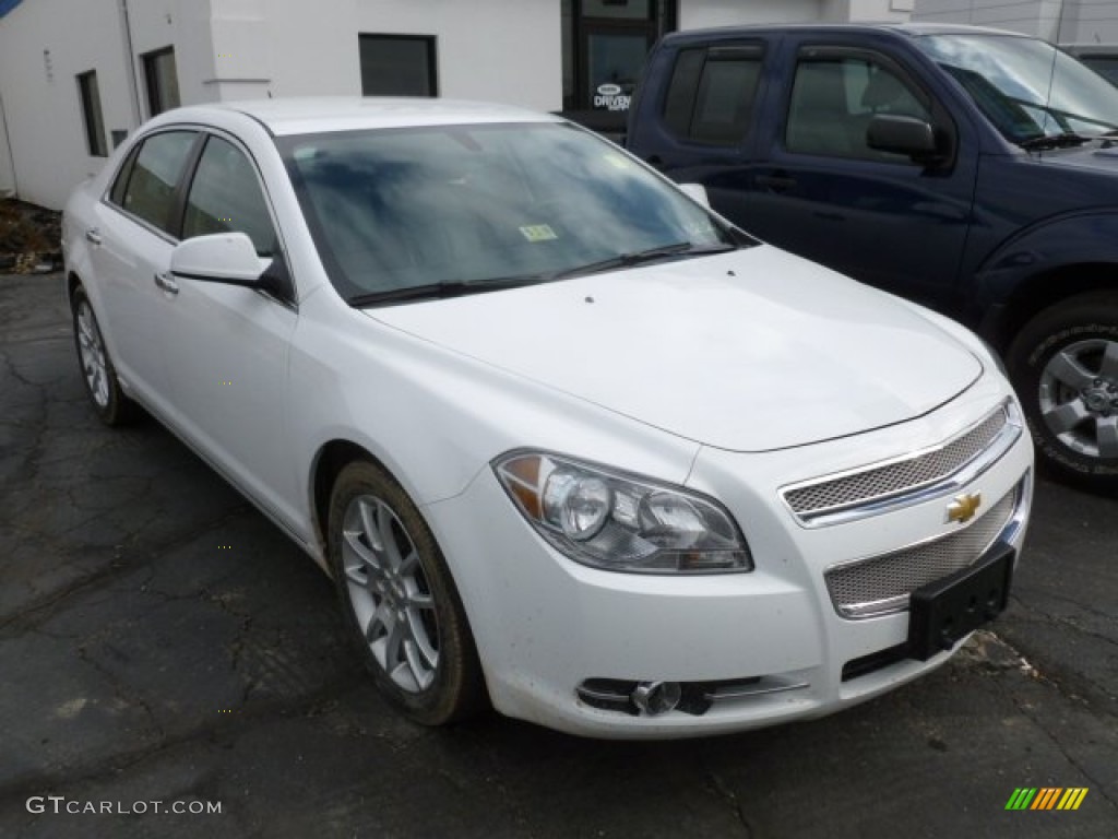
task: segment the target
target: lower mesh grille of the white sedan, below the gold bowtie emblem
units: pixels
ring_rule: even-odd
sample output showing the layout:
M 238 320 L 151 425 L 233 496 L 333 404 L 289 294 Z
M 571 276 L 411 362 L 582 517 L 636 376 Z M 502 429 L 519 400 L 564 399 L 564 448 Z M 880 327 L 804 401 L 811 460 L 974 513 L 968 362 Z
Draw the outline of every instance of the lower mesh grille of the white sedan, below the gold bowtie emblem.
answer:
M 913 591 L 967 567 L 994 544 L 1013 518 L 1021 492 L 1021 487 L 1008 492 L 965 530 L 826 572 L 839 614 L 868 618 L 908 607 Z

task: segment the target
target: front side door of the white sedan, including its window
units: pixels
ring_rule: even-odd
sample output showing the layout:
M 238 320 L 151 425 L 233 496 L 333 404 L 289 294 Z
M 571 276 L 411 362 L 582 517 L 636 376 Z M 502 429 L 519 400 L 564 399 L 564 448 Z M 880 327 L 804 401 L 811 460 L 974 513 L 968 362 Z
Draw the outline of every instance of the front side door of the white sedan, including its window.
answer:
M 262 260 L 284 260 L 257 168 L 231 136 L 210 134 L 186 190 L 182 238 L 237 230 Z M 286 264 L 286 261 L 284 261 Z M 294 293 L 174 276 L 165 333 L 181 432 L 258 503 L 294 521 L 287 358 Z

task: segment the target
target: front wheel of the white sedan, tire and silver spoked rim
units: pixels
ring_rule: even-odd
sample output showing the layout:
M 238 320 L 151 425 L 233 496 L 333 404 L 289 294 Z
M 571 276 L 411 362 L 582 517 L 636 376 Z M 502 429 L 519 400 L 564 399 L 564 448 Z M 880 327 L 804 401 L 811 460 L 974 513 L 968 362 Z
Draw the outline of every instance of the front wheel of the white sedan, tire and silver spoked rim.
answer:
M 485 705 L 470 624 L 435 537 L 407 493 L 366 461 L 330 499 L 329 556 L 344 620 L 381 695 L 423 725 Z

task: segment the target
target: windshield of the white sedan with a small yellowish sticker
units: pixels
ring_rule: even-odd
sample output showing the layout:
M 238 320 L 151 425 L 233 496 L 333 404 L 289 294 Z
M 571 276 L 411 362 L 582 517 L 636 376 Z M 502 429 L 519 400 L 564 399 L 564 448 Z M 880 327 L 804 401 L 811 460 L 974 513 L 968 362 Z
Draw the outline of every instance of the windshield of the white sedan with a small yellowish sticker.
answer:
M 563 123 L 276 142 L 331 281 L 354 304 L 736 246 L 702 207 L 613 143 Z

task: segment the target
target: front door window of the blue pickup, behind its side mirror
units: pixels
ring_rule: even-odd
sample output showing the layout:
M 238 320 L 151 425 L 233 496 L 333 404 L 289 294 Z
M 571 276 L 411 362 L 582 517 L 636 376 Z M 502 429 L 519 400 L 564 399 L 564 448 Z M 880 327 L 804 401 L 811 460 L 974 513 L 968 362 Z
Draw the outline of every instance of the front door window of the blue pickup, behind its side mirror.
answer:
M 910 162 L 902 154 L 866 145 L 865 130 L 878 114 L 931 121 L 918 94 L 872 58 L 800 59 L 788 105 L 785 145 L 804 154 Z

